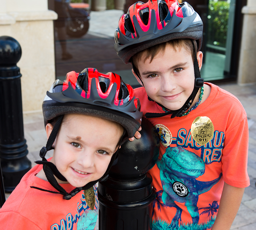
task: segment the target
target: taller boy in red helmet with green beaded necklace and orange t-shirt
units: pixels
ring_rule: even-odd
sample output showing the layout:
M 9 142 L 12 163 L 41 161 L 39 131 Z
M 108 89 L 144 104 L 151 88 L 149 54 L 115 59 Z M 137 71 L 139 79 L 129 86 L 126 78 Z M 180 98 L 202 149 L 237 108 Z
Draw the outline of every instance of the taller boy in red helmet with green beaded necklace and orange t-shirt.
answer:
M 132 5 L 115 32 L 115 50 L 144 86 L 135 96 L 161 139 L 149 171 L 152 229 L 230 229 L 250 184 L 246 112 L 200 77 L 202 26 L 186 2 L 150 0 Z

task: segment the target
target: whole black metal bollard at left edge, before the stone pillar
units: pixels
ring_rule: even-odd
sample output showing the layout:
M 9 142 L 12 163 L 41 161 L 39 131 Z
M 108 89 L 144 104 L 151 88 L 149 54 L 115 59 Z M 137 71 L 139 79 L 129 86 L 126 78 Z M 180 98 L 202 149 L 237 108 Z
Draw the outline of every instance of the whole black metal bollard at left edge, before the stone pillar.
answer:
M 20 44 L 0 37 L 0 161 L 5 192 L 12 192 L 31 168 L 24 138 L 20 68 Z

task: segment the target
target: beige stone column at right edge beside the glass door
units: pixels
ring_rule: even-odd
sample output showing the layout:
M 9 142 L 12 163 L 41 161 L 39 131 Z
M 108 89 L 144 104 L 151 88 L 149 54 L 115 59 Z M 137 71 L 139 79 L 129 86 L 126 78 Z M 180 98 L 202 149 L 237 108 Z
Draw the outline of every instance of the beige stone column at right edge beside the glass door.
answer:
M 239 58 L 238 84 L 256 83 L 256 1 L 248 0 L 244 14 Z

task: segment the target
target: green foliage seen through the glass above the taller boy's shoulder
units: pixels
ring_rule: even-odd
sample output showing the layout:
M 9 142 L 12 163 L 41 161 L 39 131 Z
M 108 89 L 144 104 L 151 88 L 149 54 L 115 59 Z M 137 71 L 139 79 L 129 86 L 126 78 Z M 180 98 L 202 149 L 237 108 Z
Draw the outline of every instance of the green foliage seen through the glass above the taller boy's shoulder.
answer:
M 226 46 L 230 3 L 209 1 L 208 44 Z

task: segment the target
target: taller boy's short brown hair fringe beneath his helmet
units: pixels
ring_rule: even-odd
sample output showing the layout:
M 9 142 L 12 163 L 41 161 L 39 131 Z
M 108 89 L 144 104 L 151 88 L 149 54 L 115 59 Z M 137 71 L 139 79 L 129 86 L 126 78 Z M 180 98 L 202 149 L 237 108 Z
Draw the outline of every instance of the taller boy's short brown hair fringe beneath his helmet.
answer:
M 193 47 L 193 44 L 195 46 L 195 49 Z M 191 53 L 192 59 L 194 62 L 195 50 L 197 50 L 196 40 L 173 39 L 173 40 L 166 41 L 164 43 L 160 43 L 160 44 L 151 46 L 147 49 L 144 49 L 144 50 L 134 54 L 132 57 L 132 62 L 133 62 L 133 67 L 136 68 L 136 71 L 139 73 L 138 65 L 137 65 L 138 60 L 143 60 L 143 62 L 145 62 L 147 59 L 150 59 L 150 62 L 152 62 L 152 60 L 156 57 L 156 55 L 158 53 L 163 52 L 165 50 L 166 45 L 172 46 L 175 49 L 175 51 L 177 51 L 177 48 L 185 48 L 189 53 Z

